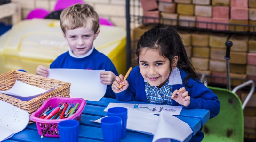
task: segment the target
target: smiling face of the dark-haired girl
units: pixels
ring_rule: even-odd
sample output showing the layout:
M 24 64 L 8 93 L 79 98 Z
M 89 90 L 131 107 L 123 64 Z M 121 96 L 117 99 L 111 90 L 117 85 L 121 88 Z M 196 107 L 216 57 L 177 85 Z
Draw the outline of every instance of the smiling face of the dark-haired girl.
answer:
M 143 78 L 151 86 L 162 87 L 170 76 L 170 61 L 161 56 L 158 50 L 141 49 L 139 67 Z

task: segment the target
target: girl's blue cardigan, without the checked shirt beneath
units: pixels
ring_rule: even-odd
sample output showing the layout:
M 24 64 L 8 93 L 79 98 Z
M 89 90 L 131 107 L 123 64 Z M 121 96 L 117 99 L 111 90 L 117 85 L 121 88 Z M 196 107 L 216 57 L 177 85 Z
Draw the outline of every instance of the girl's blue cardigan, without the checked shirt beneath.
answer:
M 173 100 L 173 105 L 191 109 L 207 109 L 210 111 L 210 118 L 217 116 L 220 111 L 220 101 L 218 100 L 218 97 L 210 89 L 205 87 L 203 83 L 200 83 L 199 79 L 198 81 L 195 81 L 194 79 L 189 78 L 188 86 L 192 87 L 186 86 L 185 77 L 187 76 L 187 73 L 181 69 L 179 69 L 179 71 L 182 84 L 173 84 L 172 90 L 179 90 L 180 88 L 185 87 L 190 96 L 190 104 L 187 107 L 184 107 Z M 129 87 L 123 92 L 115 93 L 116 99 L 120 101 L 148 102 L 145 93 L 144 78 L 140 74 L 138 66 L 132 69 L 127 81 L 129 83 Z M 203 138 L 204 133 L 200 130 L 192 137 L 191 141 L 199 142 L 202 141 Z

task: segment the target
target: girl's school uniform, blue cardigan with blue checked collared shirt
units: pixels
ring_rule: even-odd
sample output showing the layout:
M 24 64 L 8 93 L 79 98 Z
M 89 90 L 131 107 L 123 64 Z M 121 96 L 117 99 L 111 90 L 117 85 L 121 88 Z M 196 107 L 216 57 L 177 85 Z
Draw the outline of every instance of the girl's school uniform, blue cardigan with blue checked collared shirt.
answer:
M 157 88 L 150 84 L 140 74 L 139 66 L 132 69 L 127 78 L 129 86 L 126 90 L 115 93 L 116 99 L 120 101 L 139 101 L 154 104 L 164 104 L 173 106 L 182 106 L 184 108 L 200 108 L 210 111 L 210 118 L 215 117 L 220 111 L 220 101 L 218 97 L 203 83 L 195 81 L 192 78 L 188 79 L 188 87 L 185 85 L 185 77 L 187 73 L 177 67 L 172 70 L 169 80 L 161 87 Z M 179 90 L 185 87 L 190 96 L 190 104 L 185 107 L 180 105 L 175 100 L 171 99 L 171 94 L 174 90 Z M 201 128 L 202 129 L 202 128 Z M 204 133 L 198 131 L 191 141 L 202 141 Z

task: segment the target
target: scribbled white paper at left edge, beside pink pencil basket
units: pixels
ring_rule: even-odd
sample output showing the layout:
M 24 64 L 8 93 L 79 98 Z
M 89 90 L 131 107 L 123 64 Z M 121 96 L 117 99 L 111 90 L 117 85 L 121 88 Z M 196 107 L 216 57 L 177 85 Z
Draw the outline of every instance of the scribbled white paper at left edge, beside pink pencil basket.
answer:
M 25 129 L 29 122 L 28 112 L 0 100 L 0 141 L 11 138 Z

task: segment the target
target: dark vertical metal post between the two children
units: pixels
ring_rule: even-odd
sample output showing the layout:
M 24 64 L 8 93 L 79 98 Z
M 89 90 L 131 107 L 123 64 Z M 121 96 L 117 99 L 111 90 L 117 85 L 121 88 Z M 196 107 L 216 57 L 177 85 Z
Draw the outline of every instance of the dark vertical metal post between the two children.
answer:
M 130 0 L 126 0 L 125 15 L 126 15 L 126 70 L 130 68 Z

